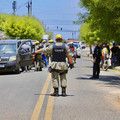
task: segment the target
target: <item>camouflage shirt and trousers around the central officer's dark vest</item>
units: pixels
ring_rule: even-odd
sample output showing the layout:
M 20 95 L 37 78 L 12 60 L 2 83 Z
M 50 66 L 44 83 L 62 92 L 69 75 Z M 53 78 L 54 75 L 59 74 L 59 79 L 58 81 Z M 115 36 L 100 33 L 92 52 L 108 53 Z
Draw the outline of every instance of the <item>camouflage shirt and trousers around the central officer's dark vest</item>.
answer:
M 55 45 L 61 47 L 63 46 L 63 43 L 56 42 Z M 53 46 L 54 45 L 51 45 L 49 48 L 46 48 L 46 51 L 51 55 L 51 59 L 53 57 Z M 67 46 L 65 46 L 64 49 L 66 50 L 66 55 L 65 55 L 65 59 L 66 59 L 69 49 Z M 60 80 L 61 87 L 63 89 L 62 92 L 64 92 L 64 90 L 66 90 L 66 87 L 67 87 L 66 74 L 68 71 L 68 63 L 66 61 L 63 61 L 63 62 L 58 62 L 58 61 L 51 60 L 51 63 L 50 63 L 52 84 L 54 89 L 58 89 L 59 80 Z

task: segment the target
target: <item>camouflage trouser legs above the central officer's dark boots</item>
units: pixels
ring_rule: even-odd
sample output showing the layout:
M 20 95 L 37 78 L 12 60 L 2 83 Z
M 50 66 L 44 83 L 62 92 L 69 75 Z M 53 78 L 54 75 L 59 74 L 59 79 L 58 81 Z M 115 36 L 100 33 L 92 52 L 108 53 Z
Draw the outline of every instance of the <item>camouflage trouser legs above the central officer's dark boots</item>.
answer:
M 66 73 L 59 73 L 54 71 L 51 73 L 51 77 L 53 88 L 58 88 L 59 84 L 61 87 L 67 87 Z

